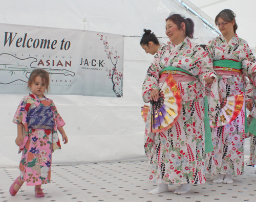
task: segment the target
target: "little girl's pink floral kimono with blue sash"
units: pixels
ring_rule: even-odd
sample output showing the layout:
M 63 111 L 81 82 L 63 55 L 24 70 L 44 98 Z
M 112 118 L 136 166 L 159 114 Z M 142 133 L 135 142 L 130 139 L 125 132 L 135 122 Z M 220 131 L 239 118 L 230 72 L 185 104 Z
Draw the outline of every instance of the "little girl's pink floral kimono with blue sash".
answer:
M 23 97 L 13 122 L 24 125 L 20 178 L 29 186 L 50 183 L 52 153 L 60 149 L 57 128 L 65 125 L 52 99 L 34 94 Z

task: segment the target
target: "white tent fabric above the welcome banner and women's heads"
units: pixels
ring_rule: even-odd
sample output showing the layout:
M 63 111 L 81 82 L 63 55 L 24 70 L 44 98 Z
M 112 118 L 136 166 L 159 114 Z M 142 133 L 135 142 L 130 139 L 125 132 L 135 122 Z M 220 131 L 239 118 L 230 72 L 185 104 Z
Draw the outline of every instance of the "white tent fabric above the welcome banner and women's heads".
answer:
M 253 19 L 256 1 L 182 1 L 212 25 L 215 25 L 215 16 L 221 10 L 226 8 L 233 10 L 237 14 L 238 35 L 248 42 L 252 50 L 255 50 L 256 39 L 253 33 L 255 33 L 256 28 L 253 27 Z M 176 0 L 112 0 L 111 2 L 97 0 L 97 4 L 95 4 L 95 1 L 81 0 L 45 0 L 44 3 L 31 3 L 29 0 L 24 0 L 23 4 L 17 4 L 16 0 L 9 0 L 2 1 L 1 6 L 1 23 L 86 29 L 136 36 L 141 36 L 143 28 L 147 28 L 153 30 L 158 37 L 165 37 L 164 19 L 170 12 L 180 12 L 182 14 L 189 12 L 185 11 L 181 5 L 179 6 Z M 86 20 L 86 22 L 83 22 L 83 20 Z M 196 27 L 195 31 L 197 32 L 197 30 Z M 195 36 L 197 37 L 197 35 L 196 33 Z M 202 36 L 205 40 L 210 37 L 210 35 Z

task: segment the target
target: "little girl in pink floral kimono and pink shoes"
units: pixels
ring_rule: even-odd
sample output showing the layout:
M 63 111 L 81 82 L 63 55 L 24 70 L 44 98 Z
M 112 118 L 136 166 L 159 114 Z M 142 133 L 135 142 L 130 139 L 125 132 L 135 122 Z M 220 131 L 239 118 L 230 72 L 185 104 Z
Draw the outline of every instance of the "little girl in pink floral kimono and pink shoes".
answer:
M 57 112 L 52 99 L 46 98 L 49 91 L 49 73 L 43 69 L 32 71 L 28 87 L 32 93 L 23 97 L 13 118 L 17 124 L 18 135 L 15 140 L 22 152 L 19 163 L 20 176 L 10 187 L 14 196 L 24 182 L 35 186 L 36 197 L 44 197 L 41 185 L 51 181 L 52 153 L 60 149 L 57 130 L 64 144 L 68 137 L 63 130 L 65 122 Z

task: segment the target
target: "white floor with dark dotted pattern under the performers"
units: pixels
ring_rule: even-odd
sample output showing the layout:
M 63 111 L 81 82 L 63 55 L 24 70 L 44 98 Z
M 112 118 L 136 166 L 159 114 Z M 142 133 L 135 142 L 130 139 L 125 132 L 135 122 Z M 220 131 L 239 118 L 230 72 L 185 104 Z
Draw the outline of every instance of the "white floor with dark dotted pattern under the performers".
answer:
M 148 194 L 156 185 L 148 182 L 150 164 L 147 162 L 99 163 L 52 166 L 52 181 L 42 185 L 45 197 L 36 198 L 34 187 L 23 185 L 15 196 L 9 187 L 19 174 L 18 168 L 0 168 L 0 201 L 129 201 L 129 202 L 211 202 L 255 201 L 255 168 L 245 166 L 244 175 L 233 176 L 232 184 L 215 184 L 207 178 L 203 185 L 191 185 L 186 194 L 175 194 L 179 185 L 169 185 L 169 191 Z

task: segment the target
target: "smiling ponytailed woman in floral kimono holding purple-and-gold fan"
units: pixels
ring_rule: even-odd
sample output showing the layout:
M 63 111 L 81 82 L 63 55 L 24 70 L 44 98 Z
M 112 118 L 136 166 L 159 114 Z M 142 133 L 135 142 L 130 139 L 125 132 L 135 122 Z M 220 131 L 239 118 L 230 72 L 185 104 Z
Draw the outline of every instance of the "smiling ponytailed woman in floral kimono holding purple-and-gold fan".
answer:
M 218 99 L 218 85 L 207 53 L 189 40 L 193 33 L 194 23 L 190 18 L 172 14 L 166 19 L 170 42 L 160 47 L 142 86 L 144 102 L 157 102 L 163 98 L 159 89 L 172 74 L 177 84 L 172 90 L 179 91 L 181 96 L 177 101 L 181 106 L 180 115 L 170 124 L 172 127 L 152 133 L 151 107 L 147 114 L 144 149 L 152 165 L 150 181 L 158 184 L 151 194 L 168 191 L 168 184 L 180 184 L 175 193 L 186 193 L 190 190 L 189 184 L 203 184 L 206 180 L 204 89 L 207 83 L 213 82 L 211 95 Z M 211 120 L 216 110 L 213 98 L 210 98 L 209 116 L 207 112 Z M 170 102 L 176 100 L 171 98 Z

